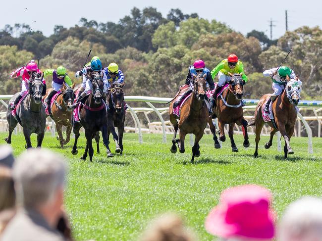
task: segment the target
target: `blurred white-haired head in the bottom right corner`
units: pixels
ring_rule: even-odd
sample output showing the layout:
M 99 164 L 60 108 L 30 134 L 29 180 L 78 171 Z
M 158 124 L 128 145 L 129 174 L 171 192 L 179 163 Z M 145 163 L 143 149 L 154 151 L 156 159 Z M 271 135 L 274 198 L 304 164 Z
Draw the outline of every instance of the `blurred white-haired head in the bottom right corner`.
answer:
M 282 216 L 278 241 L 322 241 L 322 199 L 305 196 L 292 202 Z

